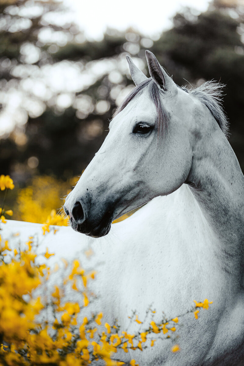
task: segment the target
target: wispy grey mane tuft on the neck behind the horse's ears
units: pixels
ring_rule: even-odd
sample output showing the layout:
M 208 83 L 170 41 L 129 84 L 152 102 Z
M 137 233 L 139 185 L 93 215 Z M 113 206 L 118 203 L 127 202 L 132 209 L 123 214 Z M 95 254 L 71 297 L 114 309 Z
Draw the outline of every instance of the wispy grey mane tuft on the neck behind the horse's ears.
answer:
M 206 81 L 195 89 L 190 89 L 189 93 L 195 95 L 200 101 L 209 108 L 210 112 L 224 132 L 229 136 L 229 122 L 222 106 L 223 87 L 225 85 L 215 81 Z

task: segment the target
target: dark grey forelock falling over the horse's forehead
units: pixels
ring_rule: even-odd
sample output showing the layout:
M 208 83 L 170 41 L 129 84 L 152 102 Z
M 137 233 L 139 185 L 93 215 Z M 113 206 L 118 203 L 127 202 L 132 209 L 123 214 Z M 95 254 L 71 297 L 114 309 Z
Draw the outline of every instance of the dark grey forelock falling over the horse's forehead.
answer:
M 127 106 L 127 104 L 137 95 L 140 95 L 144 89 L 148 89 L 149 96 L 151 100 L 154 102 L 156 111 L 157 111 L 157 123 L 158 123 L 158 135 L 163 137 L 165 131 L 168 127 L 169 113 L 164 109 L 160 99 L 160 91 L 158 89 L 157 84 L 153 81 L 152 78 L 144 80 L 139 85 L 137 85 L 132 91 L 127 95 L 127 97 L 123 100 L 123 102 L 116 109 L 115 117 L 119 112 L 123 111 L 123 109 Z

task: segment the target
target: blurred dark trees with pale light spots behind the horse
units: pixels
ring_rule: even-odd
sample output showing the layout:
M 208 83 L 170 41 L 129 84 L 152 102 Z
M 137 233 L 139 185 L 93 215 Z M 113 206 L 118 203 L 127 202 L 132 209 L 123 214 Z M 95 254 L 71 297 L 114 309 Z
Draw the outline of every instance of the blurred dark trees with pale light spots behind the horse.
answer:
M 125 54 L 146 73 L 145 49 L 155 53 L 179 85 L 200 85 L 207 79 L 226 83 L 230 143 L 244 169 L 244 25 L 239 5 L 215 1 L 202 14 L 185 9 L 154 42 L 133 29 L 108 29 L 102 41 L 91 42 L 67 21 L 67 14 L 59 17 L 64 10 L 56 1 L 0 4 L 0 126 L 2 121 L 11 127 L 0 139 L 2 173 L 11 173 L 20 184 L 37 173 L 63 178 L 80 174 L 133 86 Z

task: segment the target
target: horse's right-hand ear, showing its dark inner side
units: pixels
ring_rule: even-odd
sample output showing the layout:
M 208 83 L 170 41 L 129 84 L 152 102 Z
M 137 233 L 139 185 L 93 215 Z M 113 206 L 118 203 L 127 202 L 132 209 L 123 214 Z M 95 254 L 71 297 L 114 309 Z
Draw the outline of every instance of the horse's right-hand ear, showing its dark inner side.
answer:
M 167 72 L 159 65 L 158 60 L 154 54 L 146 50 L 147 64 L 151 78 L 158 84 L 158 86 L 164 91 L 170 90 L 172 92 L 177 91 L 177 86 L 167 74 Z

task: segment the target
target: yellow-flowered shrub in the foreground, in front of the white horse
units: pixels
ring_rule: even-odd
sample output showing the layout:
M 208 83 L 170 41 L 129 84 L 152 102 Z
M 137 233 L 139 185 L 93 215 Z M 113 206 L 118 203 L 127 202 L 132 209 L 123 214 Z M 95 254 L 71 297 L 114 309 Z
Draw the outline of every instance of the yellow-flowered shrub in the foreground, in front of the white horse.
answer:
M 9 179 L 1 178 L 2 191 L 13 188 Z M 0 210 L 1 229 L 5 223 L 4 215 L 11 213 L 4 211 L 4 206 Z M 56 216 L 53 211 L 44 225 L 44 234 L 52 229 L 51 225 L 63 224 L 63 220 L 64 217 Z M 135 334 L 121 331 L 116 322 L 103 323 L 102 312 L 78 321 L 82 309 L 89 306 L 95 296 L 87 286 L 95 280 L 96 272 L 87 272 L 76 259 L 63 284 L 55 285 L 47 294 L 44 290 L 46 281 L 57 268 L 50 270 L 45 264 L 37 264 L 37 239 L 30 237 L 24 247 L 14 249 L 11 249 L 9 240 L 0 232 L 0 366 L 87 366 L 99 360 L 106 366 L 138 366 L 135 359 L 131 359 L 129 364 L 117 359 L 117 350 L 128 353 L 128 350 L 143 351 L 145 347 L 153 347 L 156 341 L 153 338 L 159 333 L 172 339 L 172 352 L 180 351 L 179 344 L 174 344 L 179 317 L 164 317 L 159 324 L 153 320 L 146 324 L 133 313 L 129 317 L 131 322 L 136 322 L 139 329 L 144 328 Z M 49 259 L 54 254 L 46 248 L 38 259 L 41 255 Z M 71 296 L 72 299 L 78 296 L 77 301 L 67 301 L 67 288 L 76 294 Z M 195 301 L 191 309 L 195 318 L 199 313 L 195 309 L 207 310 L 210 303 L 207 299 Z M 147 311 L 151 316 L 154 313 L 155 310 Z

